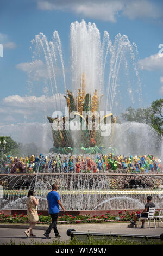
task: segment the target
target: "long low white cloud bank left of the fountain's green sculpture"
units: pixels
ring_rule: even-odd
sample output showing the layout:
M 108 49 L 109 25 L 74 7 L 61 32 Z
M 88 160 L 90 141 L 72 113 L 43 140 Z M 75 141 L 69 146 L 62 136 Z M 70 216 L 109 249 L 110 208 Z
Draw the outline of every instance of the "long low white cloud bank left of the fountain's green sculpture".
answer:
M 55 110 L 64 112 L 65 106 L 66 100 L 62 94 L 51 97 L 11 95 L 0 102 L 0 120 L 4 124 L 21 123 L 24 120 L 42 122 L 47 120 L 47 116 L 52 117 Z

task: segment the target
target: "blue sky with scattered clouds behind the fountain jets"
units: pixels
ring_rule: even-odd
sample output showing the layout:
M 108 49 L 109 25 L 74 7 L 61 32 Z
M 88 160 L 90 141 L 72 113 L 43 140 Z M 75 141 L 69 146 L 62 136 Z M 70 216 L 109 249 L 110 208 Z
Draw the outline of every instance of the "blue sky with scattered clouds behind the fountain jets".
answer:
M 4 47 L 3 57 L 0 57 L 1 135 L 4 132 L 9 135 L 13 129 L 17 129 L 18 124 L 24 122 L 41 122 L 37 117 L 47 115 L 47 112 L 41 114 L 40 99 L 35 99 L 34 109 L 29 107 L 34 102 L 32 98 L 28 102 L 24 100 L 26 95 L 34 96 L 29 94 L 27 70 L 23 71 L 20 65 L 32 61 L 30 41 L 40 32 L 51 40 L 53 32 L 57 30 L 65 68 L 68 69 L 70 24 L 76 20 L 81 22 L 82 19 L 95 22 L 101 35 L 105 30 L 108 31 L 111 40 L 121 33 L 126 34 L 131 42 L 135 42 L 139 50 L 140 64 L 143 66 L 143 70 L 141 67 L 139 70 L 143 92 L 142 106 L 148 106 L 153 100 L 162 97 L 163 57 L 158 54 L 158 46 L 163 44 L 162 1 L 1 0 L 0 44 Z M 51 101 L 49 105 L 50 103 Z M 51 107 L 47 106 L 47 111 L 51 115 Z M 13 136 L 15 134 L 16 132 Z

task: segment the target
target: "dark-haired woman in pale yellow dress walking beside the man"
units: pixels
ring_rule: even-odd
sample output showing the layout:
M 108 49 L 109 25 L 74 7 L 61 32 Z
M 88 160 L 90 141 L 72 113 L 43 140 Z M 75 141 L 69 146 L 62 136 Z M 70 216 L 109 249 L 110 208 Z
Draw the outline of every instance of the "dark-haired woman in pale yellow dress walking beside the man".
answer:
M 30 225 L 29 225 L 29 228 L 24 233 L 26 234 L 27 237 L 36 237 L 33 234 L 32 229 L 34 228 L 35 224 L 39 220 L 39 216 L 37 214 L 37 205 L 39 204 L 39 199 L 36 199 L 34 197 L 34 190 L 29 190 L 27 197 L 28 197 L 26 201 L 27 215 L 30 221 Z

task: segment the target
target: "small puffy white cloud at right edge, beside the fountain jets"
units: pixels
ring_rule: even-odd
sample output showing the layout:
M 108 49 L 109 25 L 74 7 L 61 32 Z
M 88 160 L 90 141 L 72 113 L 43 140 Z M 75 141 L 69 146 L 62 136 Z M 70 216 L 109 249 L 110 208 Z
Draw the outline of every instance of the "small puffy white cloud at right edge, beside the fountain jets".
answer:
M 160 70 L 163 72 L 163 54 L 154 54 L 139 61 L 141 69 L 148 71 Z

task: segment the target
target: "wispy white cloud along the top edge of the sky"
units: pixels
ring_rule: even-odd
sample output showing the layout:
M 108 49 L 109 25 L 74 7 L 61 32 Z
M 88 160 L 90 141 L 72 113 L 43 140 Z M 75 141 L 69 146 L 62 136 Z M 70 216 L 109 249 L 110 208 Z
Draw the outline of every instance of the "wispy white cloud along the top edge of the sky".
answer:
M 160 5 L 150 0 L 37 0 L 42 10 L 73 11 L 83 17 L 116 22 L 118 16 L 129 19 L 152 18 L 162 16 Z

